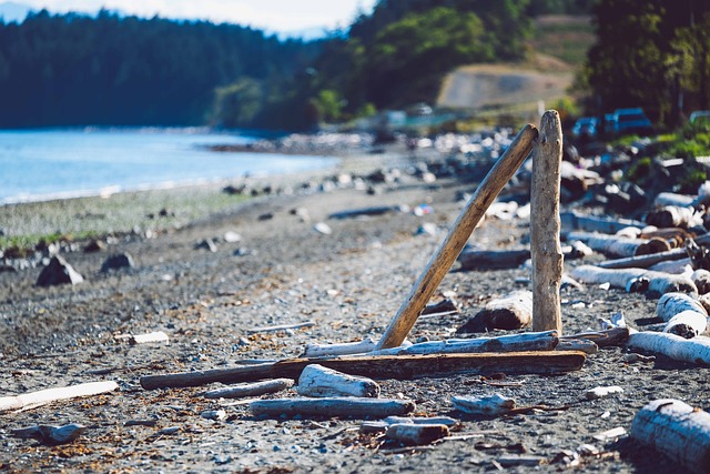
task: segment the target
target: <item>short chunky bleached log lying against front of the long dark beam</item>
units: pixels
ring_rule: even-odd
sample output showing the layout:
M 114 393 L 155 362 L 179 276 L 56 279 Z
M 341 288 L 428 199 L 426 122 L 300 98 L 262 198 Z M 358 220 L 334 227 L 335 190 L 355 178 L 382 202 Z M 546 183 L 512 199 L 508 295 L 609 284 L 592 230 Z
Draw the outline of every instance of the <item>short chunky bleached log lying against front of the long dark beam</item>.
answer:
M 344 374 L 320 364 L 307 365 L 298 377 L 296 391 L 303 396 L 379 396 L 372 379 Z

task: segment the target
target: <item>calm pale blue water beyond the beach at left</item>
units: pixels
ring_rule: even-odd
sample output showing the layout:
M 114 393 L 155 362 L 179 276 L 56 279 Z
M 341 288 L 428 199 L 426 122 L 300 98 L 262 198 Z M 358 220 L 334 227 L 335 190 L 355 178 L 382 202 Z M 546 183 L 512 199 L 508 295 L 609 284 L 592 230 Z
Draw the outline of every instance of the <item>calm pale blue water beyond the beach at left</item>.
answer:
M 332 159 L 217 153 L 250 137 L 204 130 L 0 130 L 0 204 L 327 167 Z

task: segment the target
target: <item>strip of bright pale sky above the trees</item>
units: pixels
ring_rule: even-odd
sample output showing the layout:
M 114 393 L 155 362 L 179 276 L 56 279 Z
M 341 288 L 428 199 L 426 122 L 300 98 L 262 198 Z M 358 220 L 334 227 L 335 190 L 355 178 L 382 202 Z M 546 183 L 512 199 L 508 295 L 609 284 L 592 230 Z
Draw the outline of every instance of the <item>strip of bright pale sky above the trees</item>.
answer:
M 101 7 L 139 17 L 210 20 L 272 32 L 349 26 L 377 0 L 14 0 L 53 13 L 97 12 Z

